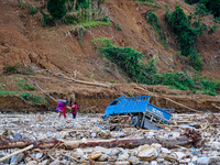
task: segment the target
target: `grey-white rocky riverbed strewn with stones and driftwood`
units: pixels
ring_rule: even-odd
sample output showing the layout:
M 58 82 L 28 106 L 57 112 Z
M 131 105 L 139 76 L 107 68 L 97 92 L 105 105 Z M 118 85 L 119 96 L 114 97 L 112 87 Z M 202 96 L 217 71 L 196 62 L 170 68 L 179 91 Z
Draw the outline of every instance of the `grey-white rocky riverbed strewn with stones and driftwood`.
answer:
M 133 128 L 129 117 L 101 117 L 1 113 L 0 164 L 220 164 L 219 113 L 174 113 L 158 131 Z M 44 142 L 54 145 L 40 145 Z M 22 143 L 34 147 L 3 158 L 25 147 Z

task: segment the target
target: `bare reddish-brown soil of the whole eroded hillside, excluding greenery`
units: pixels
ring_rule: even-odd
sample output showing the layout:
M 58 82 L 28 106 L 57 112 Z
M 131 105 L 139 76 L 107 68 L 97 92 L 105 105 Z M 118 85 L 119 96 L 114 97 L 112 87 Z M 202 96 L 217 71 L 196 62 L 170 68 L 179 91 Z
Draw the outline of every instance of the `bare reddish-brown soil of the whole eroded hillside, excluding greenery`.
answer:
M 29 0 L 30 3 L 41 8 L 42 1 Z M 29 3 L 26 1 L 26 4 Z M 174 9 L 180 4 L 186 13 L 194 11 L 194 7 L 184 3 L 182 0 L 164 1 L 156 3 L 161 7 L 140 6 L 138 2 L 128 0 L 106 0 L 105 12 L 111 21 L 110 26 L 99 26 L 87 29 L 82 37 L 75 36 L 72 31 L 77 26 L 58 25 L 54 28 L 41 26 L 41 13 L 31 16 L 29 9 L 19 8 L 16 0 L 0 1 L 0 72 L 4 65 L 23 63 L 34 72 L 50 70 L 51 73 L 63 73 L 69 77 L 87 81 L 118 81 L 111 88 L 85 86 L 73 82 L 37 79 L 40 86 L 55 98 L 76 99 L 80 111 L 103 112 L 105 108 L 117 97 L 148 95 L 135 89 L 134 85 L 128 84 L 131 80 L 125 77 L 120 69 L 109 61 L 101 58 L 91 44 L 95 37 L 107 37 L 118 46 L 132 46 L 144 54 L 145 59 L 155 58 L 156 67 L 161 73 L 185 70 L 187 68 L 180 63 L 178 57 L 175 37 L 169 33 L 164 22 L 164 6 Z M 146 23 L 143 13 L 156 8 L 156 13 L 163 25 L 163 33 L 167 35 L 169 52 L 161 44 L 157 34 L 152 26 Z M 211 24 L 212 18 L 207 19 L 207 24 Z M 117 31 L 113 24 L 119 23 L 122 31 Z M 205 34 L 199 38 L 197 50 L 204 58 L 202 75 L 220 78 L 220 53 L 219 36 L 220 30 L 212 35 Z M 36 74 L 37 75 L 37 74 Z M 40 75 L 41 76 L 41 75 Z M 50 78 L 50 75 L 44 75 Z M 6 77 L 1 76 L 1 79 Z M 8 77 L 7 77 L 8 78 Z M 53 79 L 53 78 L 52 78 Z M 168 89 L 167 87 L 142 86 L 150 91 L 163 97 L 172 98 L 179 103 L 199 110 L 216 110 L 211 103 L 219 103 L 218 97 L 193 95 L 186 91 Z M 4 90 L 14 90 L 6 88 Z M 161 108 L 184 108 L 166 101 L 163 98 L 152 97 L 151 102 Z M 53 107 L 51 103 L 48 107 Z M 28 108 L 23 100 L 14 97 L 1 98 L 1 109 L 4 108 Z M 30 107 L 29 107 L 30 108 Z M 38 107 L 42 109 L 42 107 Z

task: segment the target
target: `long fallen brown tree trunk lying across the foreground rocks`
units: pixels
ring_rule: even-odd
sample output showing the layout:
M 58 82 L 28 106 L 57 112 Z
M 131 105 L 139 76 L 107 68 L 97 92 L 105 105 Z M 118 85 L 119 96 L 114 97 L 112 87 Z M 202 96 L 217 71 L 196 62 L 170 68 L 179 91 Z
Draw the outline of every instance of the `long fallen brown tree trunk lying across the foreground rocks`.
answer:
M 113 139 L 113 140 L 98 140 L 98 141 L 63 141 L 57 139 L 45 140 L 4 140 L 0 141 L 0 150 L 4 148 L 23 148 L 33 144 L 38 148 L 77 148 L 77 147 L 124 147 L 133 148 L 144 144 L 160 143 L 166 147 L 175 147 L 175 145 L 186 146 L 190 143 L 190 139 L 187 136 L 179 136 L 177 139 Z

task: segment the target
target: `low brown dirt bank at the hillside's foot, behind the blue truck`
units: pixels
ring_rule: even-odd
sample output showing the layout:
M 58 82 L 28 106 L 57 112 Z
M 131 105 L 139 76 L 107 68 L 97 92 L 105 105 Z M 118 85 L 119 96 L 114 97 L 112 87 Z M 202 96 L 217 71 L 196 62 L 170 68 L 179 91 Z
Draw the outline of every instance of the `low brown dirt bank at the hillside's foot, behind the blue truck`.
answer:
M 36 81 L 37 86 L 44 90 L 44 92 L 52 96 L 54 99 L 66 99 L 69 105 L 74 100 L 77 101 L 79 112 L 101 112 L 103 113 L 107 106 L 116 98 L 124 95 L 125 97 L 133 96 L 146 96 L 150 95 L 150 102 L 160 108 L 175 108 L 175 112 L 194 112 L 188 108 L 193 108 L 199 111 L 216 111 L 219 109 L 215 106 L 220 107 L 220 98 L 218 96 L 211 97 L 207 95 L 193 94 L 190 91 L 183 91 L 176 89 L 169 89 L 164 86 L 146 86 L 135 84 L 106 84 L 108 87 L 91 86 L 84 84 L 76 84 L 72 80 L 65 80 L 52 76 L 35 75 L 29 76 L 6 76 L 4 80 L 10 82 L 6 85 L 6 81 L 0 81 L 4 90 L 14 90 L 18 92 L 30 92 L 19 91 L 19 88 L 13 85 L 14 77 L 26 79 L 28 82 L 34 86 L 29 79 Z M 41 90 L 31 91 L 38 96 L 46 97 Z M 19 96 L 19 95 L 18 95 Z M 170 101 L 170 100 L 172 101 Z M 21 97 L 4 96 L 0 97 L 1 111 L 6 110 L 22 110 L 22 111 L 55 111 L 56 102 L 47 97 L 48 103 L 46 105 L 34 105 L 30 101 L 23 100 Z M 177 102 L 177 103 L 176 103 Z M 180 103 L 180 105 L 179 105 Z M 183 105 L 183 106 L 182 106 Z M 185 106 L 185 107 L 184 107 Z

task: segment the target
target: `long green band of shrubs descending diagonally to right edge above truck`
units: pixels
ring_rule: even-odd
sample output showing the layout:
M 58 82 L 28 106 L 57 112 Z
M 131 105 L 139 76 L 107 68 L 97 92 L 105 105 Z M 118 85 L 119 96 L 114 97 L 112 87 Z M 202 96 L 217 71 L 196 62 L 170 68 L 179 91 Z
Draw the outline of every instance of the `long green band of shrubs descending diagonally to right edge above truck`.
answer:
M 118 47 L 108 38 L 94 38 L 95 48 L 100 55 L 116 63 L 133 81 L 147 85 L 164 85 L 180 90 L 200 90 L 207 95 L 220 95 L 220 81 L 201 76 L 190 77 L 186 73 L 160 74 L 152 59 L 144 64 L 143 55 L 132 47 Z

